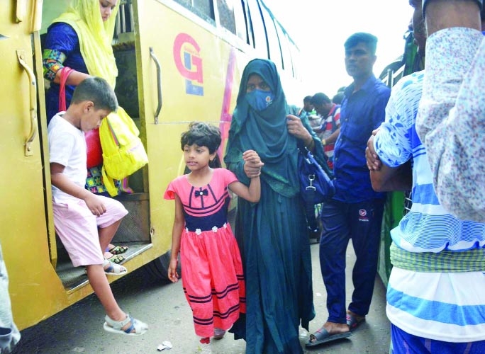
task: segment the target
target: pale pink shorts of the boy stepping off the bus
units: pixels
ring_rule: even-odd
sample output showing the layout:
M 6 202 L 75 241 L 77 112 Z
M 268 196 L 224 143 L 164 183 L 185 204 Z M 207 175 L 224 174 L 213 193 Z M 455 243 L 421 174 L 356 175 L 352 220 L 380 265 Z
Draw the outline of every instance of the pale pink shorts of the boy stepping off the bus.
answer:
M 74 267 L 103 264 L 104 256 L 99 244 L 98 228 L 103 229 L 128 214 L 121 202 L 104 198 L 106 212 L 96 217 L 82 199 L 69 202 L 53 202 L 55 232 L 65 246 Z

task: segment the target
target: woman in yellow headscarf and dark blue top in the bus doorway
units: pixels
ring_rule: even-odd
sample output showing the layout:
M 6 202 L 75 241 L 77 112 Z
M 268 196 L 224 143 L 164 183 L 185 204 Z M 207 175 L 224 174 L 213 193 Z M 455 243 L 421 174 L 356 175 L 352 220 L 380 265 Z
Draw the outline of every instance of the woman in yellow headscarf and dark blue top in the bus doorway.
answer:
M 52 21 L 43 51 L 44 77 L 50 81 L 45 98 L 48 122 L 60 111 L 60 76 L 64 67 L 73 69 L 67 76 L 65 86 L 67 107 L 75 86 L 90 75 L 101 76 L 114 89 L 118 69 L 111 41 L 119 5 L 120 1 L 117 0 L 74 0 L 65 13 Z M 89 167 L 87 189 L 108 195 L 101 179 L 101 166 Z M 109 244 L 105 258 L 121 263 L 124 258 L 119 254 L 127 249 L 126 246 Z

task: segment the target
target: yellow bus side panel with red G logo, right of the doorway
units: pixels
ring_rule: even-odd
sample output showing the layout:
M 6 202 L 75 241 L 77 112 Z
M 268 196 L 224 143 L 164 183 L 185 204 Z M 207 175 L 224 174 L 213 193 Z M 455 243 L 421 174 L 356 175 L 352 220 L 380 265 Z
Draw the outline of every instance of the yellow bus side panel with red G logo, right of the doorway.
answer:
M 137 9 L 142 63 L 138 77 L 143 87 L 140 112 L 144 113 L 141 121 L 150 156 L 150 219 L 152 237 L 161 239 L 157 246 L 163 252 L 171 244 L 172 223 L 167 220 L 174 219 L 175 209 L 173 201 L 163 200 L 163 193 L 170 181 L 184 173 L 185 167 L 180 135 L 194 120 L 211 122 L 228 131 L 230 117 L 223 114 L 223 103 L 232 112 L 239 87 L 239 79 L 235 78 L 239 78 L 240 70 L 235 50 L 191 18 L 180 16 L 156 0 L 138 1 Z M 157 21 L 143 21 L 150 13 L 159 15 Z M 162 72 L 163 105 L 157 122 L 157 69 L 150 48 Z M 245 64 L 247 59 L 240 61 Z

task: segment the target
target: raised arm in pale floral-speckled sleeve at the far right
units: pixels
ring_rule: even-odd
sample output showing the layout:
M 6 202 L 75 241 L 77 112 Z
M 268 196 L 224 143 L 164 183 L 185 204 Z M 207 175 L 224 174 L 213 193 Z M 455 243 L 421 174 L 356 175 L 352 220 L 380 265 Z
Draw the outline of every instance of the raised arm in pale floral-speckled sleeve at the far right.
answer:
M 426 75 L 416 130 L 446 210 L 485 222 L 485 41 L 475 0 L 426 1 Z M 452 28 L 461 26 L 461 28 Z

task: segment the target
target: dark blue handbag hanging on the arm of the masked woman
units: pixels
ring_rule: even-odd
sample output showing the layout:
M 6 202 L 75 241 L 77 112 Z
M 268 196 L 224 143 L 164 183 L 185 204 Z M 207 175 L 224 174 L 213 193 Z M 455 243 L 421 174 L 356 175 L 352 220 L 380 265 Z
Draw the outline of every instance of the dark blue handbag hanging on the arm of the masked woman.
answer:
M 298 176 L 301 197 L 305 202 L 306 222 L 308 230 L 315 234 L 321 231 L 315 215 L 315 205 L 335 194 L 333 173 L 325 162 L 320 164 L 306 147 L 299 147 L 298 150 Z

